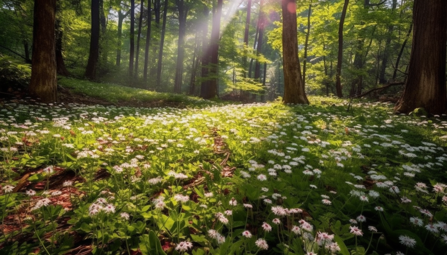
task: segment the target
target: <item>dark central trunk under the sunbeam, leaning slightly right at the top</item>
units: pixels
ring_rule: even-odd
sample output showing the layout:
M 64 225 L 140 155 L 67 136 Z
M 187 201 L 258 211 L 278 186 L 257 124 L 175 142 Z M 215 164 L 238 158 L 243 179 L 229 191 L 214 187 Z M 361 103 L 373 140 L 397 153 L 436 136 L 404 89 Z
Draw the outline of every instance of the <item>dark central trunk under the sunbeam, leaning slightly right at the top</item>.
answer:
M 222 16 L 222 4 L 223 0 L 217 0 L 217 8 L 213 13 L 213 25 L 211 28 L 211 40 L 210 40 L 210 67 L 208 68 L 209 79 L 208 86 L 203 87 L 201 96 L 209 99 L 217 95 L 217 79 L 218 79 L 218 63 L 219 63 L 219 33 L 220 33 L 220 17 Z

